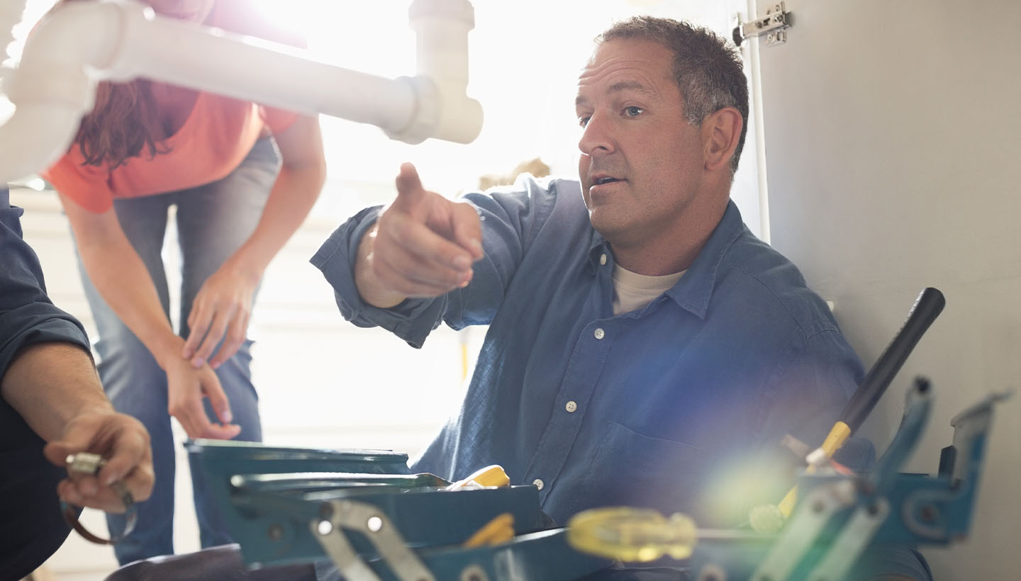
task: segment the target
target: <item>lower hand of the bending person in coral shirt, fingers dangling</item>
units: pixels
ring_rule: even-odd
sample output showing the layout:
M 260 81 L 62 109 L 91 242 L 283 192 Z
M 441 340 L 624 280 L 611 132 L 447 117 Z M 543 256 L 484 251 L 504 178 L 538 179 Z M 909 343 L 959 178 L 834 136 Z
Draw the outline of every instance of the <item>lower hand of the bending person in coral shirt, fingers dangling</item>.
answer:
M 203 397 L 209 398 L 221 425 L 209 422 Z M 172 359 L 166 366 L 166 400 L 167 411 L 190 438 L 229 440 L 241 433 L 241 426 L 231 424 L 231 404 L 208 365 L 196 370 L 185 359 Z

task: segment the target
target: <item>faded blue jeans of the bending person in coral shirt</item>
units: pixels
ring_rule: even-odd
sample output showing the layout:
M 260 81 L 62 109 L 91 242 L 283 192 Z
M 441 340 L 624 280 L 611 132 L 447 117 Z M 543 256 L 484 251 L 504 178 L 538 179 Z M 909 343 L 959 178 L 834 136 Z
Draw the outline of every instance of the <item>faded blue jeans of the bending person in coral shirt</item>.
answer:
M 254 231 L 279 170 L 280 158 L 273 140 L 260 139 L 244 161 L 223 180 L 189 190 L 114 201 L 120 227 L 148 269 L 167 319 L 169 292 L 161 252 L 167 210 L 172 205 L 177 206 L 182 264 L 179 334 L 182 337 L 188 336 L 188 312 L 202 283 Z M 139 503 L 135 531 L 113 549 L 121 565 L 139 559 L 173 554 L 177 444 L 167 414 L 166 375 L 145 345 L 100 296 L 89 280 L 81 257 L 79 267 L 99 330 L 95 348 L 99 354 L 97 368 L 103 388 L 117 411 L 138 418 L 152 438 L 156 476 L 152 496 Z M 261 441 L 258 396 L 251 382 L 251 340 L 246 340 L 237 353 L 216 370 L 216 377 L 231 402 L 234 423 L 241 426 L 241 433 L 235 439 Z M 210 421 L 218 422 L 208 400 L 205 406 Z M 191 472 L 202 546 L 233 542 L 194 464 Z M 125 519 L 119 515 L 110 515 L 106 521 L 111 535 L 124 530 Z

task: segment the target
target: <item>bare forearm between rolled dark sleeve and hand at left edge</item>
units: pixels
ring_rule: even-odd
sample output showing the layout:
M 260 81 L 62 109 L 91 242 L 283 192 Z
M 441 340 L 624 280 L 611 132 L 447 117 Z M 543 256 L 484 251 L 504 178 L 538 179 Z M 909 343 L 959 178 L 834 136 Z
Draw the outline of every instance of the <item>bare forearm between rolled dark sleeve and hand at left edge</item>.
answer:
M 0 394 L 48 442 L 86 409 L 113 410 L 92 359 L 69 343 L 23 347 L 0 378 Z

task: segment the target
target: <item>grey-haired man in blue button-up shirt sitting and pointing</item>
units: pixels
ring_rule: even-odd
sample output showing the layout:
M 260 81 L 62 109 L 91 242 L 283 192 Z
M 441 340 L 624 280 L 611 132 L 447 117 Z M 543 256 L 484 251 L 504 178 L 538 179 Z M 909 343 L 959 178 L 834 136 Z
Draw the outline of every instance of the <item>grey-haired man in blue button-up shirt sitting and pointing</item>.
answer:
M 729 200 L 747 120 L 734 50 L 673 20 L 616 25 L 576 109 L 580 182 L 452 202 L 405 164 L 396 200 L 312 263 L 346 319 L 412 346 L 441 323 L 489 325 L 460 411 L 414 470 L 501 465 L 562 524 L 624 504 L 734 526 L 789 487 L 781 438 L 820 443 L 861 362 Z

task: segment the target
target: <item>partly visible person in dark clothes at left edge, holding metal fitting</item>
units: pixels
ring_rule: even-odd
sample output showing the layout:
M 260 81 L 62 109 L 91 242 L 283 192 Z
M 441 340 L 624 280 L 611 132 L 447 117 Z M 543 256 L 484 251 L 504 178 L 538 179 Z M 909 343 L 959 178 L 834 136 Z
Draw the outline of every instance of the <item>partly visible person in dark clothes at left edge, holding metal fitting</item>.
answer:
M 28 576 L 70 532 L 59 499 L 124 512 L 105 486 L 152 490 L 149 434 L 103 394 L 81 323 L 50 302 L 21 209 L 0 187 L 0 579 Z M 47 443 L 49 442 L 49 443 Z M 100 453 L 98 477 L 70 480 L 67 454 Z

